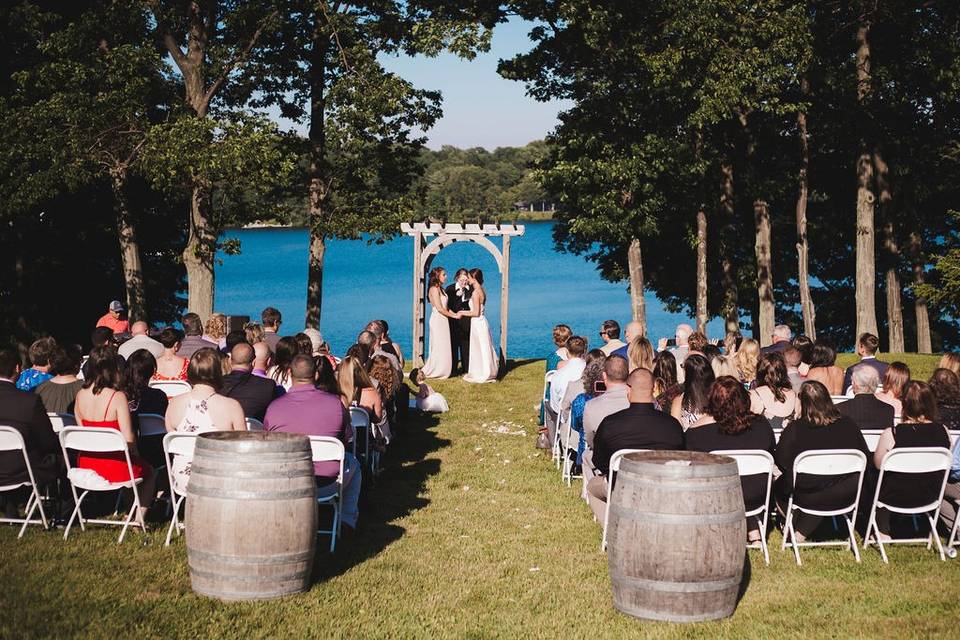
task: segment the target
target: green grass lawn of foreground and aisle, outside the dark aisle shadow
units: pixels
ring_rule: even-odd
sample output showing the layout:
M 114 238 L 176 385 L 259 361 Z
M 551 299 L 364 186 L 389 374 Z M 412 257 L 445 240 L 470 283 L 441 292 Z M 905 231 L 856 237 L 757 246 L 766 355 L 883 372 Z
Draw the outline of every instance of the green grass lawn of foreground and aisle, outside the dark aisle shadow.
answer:
M 933 365 L 911 362 L 925 377 Z M 935 364 L 936 360 L 932 359 Z M 452 412 L 418 418 L 391 445 L 362 503 L 360 530 L 317 557 L 305 594 L 223 604 L 194 595 L 183 538 L 165 530 L 0 527 L 0 637 L 916 637 L 957 634 L 960 560 L 897 547 L 885 566 L 841 548 L 804 566 L 771 537 L 736 614 L 672 625 L 611 604 L 600 528 L 533 448 L 542 362 L 497 384 L 436 387 Z M 366 479 L 365 479 L 366 481 Z M 256 525 L 250 531 L 256 535 Z

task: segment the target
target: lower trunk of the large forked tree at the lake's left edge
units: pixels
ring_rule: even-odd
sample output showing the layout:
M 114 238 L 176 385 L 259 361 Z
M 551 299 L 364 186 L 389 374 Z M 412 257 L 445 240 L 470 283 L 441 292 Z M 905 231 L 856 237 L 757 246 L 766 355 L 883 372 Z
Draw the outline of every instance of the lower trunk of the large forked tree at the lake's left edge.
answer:
M 205 322 L 213 314 L 213 262 L 217 236 L 210 224 L 210 193 L 197 181 L 190 197 L 190 233 L 183 249 L 187 269 L 187 310 Z

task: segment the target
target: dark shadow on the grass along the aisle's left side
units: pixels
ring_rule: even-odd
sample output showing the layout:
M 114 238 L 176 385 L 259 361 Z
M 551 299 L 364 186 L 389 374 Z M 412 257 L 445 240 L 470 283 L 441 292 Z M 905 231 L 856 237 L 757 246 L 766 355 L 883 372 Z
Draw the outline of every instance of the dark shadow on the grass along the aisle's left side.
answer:
M 333 554 L 329 537 L 318 538 L 314 584 L 345 573 L 399 540 L 406 530 L 395 522 L 430 503 L 422 494 L 427 479 L 439 473 L 440 461 L 426 458 L 450 445 L 437 434 L 438 424 L 435 414 L 419 411 L 410 411 L 403 419 L 399 434 L 381 458 L 380 474 L 371 480 L 365 470 L 357 532 L 338 540 Z M 327 511 L 321 511 L 321 526 L 329 526 Z

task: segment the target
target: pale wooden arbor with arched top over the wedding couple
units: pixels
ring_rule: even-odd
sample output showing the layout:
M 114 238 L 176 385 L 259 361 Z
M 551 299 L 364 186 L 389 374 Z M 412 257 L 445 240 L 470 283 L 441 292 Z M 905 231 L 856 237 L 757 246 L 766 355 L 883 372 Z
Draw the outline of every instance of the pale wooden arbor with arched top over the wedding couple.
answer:
M 475 242 L 493 256 L 501 275 L 500 286 L 500 362 L 507 359 L 507 317 L 510 297 L 510 238 L 522 236 L 523 225 L 403 223 L 400 230 L 413 237 L 413 366 L 423 366 L 427 274 L 433 259 L 454 242 Z M 435 237 L 434 237 L 435 236 Z M 429 238 L 433 238 L 428 243 Z M 490 238 L 501 238 L 498 248 Z M 502 367 L 501 367 L 502 369 Z

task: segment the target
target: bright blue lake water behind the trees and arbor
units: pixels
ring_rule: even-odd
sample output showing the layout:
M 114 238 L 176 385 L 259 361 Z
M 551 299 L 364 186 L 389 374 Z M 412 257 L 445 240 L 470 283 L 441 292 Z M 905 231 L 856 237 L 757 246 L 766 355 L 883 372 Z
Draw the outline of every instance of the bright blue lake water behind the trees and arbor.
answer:
M 603 320 L 629 321 L 626 283 L 605 282 L 592 263 L 557 252 L 552 222 L 525 226 L 526 234 L 511 241 L 510 357 L 544 357 L 551 345 L 551 329 L 558 322 L 570 325 L 591 346 L 598 346 Z M 259 321 L 260 311 L 273 306 L 283 314 L 281 333 L 301 330 L 306 312 L 307 231 L 243 229 L 224 235 L 240 240 L 241 253 L 218 256 L 215 309 Z M 444 249 L 433 264 L 445 267 L 450 278 L 459 267 L 483 270 L 487 318 L 494 343 L 498 343 L 500 274 L 493 257 L 472 242 L 460 242 Z M 406 236 L 380 245 L 362 240 L 329 242 L 320 330 L 334 352 L 343 353 L 353 344 L 369 320 L 383 318 L 409 357 L 412 279 L 413 241 Z M 652 338 L 672 336 L 676 324 L 684 321 L 690 320 L 668 313 L 655 296 L 647 295 L 647 326 Z M 711 337 L 722 336 L 722 328 L 722 321 L 711 322 Z

